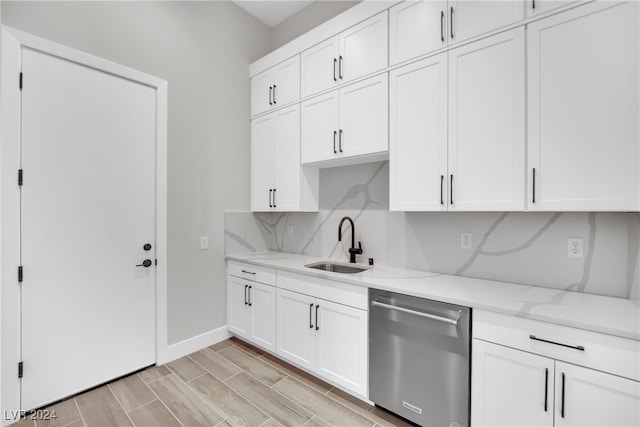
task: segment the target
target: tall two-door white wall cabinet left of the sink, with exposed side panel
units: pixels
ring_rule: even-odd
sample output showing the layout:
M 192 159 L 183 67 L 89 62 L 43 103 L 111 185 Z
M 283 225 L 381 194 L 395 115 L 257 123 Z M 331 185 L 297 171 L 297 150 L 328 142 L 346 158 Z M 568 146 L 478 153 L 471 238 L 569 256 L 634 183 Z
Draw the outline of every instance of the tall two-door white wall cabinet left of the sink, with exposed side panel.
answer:
M 251 210 L 318 209 L 318 172 L 300 166 L 300 106 L 251 121 Z

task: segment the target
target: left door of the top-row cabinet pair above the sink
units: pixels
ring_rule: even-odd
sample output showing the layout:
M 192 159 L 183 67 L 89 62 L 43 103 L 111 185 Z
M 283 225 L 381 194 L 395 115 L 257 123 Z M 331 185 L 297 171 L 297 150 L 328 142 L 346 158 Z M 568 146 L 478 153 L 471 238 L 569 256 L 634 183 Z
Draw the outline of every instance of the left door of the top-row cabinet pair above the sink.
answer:
M 332 37 L 300 54 L 302 97 L 338 84 L 338 37 Z

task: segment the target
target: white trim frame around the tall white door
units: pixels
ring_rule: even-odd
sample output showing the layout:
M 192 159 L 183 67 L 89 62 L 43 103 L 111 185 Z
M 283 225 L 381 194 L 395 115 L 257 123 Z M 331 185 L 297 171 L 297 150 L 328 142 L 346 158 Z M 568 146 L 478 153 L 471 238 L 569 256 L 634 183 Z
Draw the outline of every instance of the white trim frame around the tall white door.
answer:
M 0 36 L 0 425 L 21 409 L 17 367 L 21 358 L 20 189 L 21 150 L 19 76 L 22 49 L 31 48 L 90 68 L 144 84 L 156 91 L 155 151 L 155 320 L 156 363 L 171 359 L 167 340 L 167 81 L 102 58 L 2 26 Z M 25 84 L 28 78 L 25 78 Z M 25 370 L 28 370 L 26 367 Z M 5 412 L 6 411 L 6 412 Z M 14 411 L 14 412 L 11 412 Z

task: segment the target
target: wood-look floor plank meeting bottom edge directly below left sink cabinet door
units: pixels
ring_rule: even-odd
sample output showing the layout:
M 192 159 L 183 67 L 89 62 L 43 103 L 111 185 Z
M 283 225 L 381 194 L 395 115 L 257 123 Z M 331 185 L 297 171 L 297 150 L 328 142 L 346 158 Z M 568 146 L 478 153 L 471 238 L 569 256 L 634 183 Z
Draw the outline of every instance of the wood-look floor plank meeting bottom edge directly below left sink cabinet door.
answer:
M 225 382 L 238 394 L 284 426 L 302 426 L 313 414 L 243 372 Z

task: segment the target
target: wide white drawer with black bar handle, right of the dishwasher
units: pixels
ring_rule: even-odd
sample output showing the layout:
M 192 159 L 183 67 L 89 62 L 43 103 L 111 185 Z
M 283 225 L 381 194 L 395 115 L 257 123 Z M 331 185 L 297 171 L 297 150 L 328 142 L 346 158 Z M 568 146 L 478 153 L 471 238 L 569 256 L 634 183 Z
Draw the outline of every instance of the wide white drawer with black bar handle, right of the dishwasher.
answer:
M 640 380 L 640 341 L 475 310 L 473 337 Z

